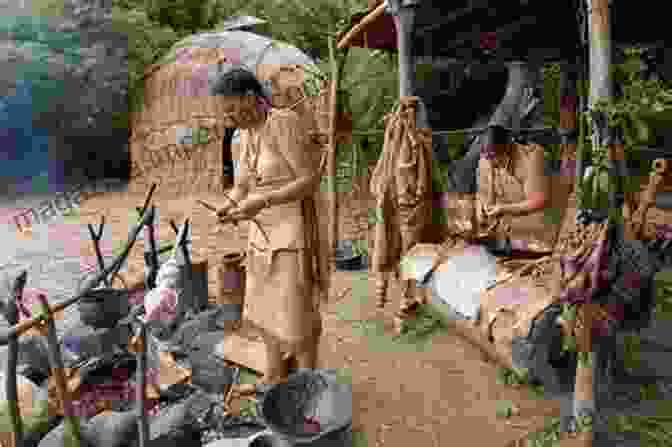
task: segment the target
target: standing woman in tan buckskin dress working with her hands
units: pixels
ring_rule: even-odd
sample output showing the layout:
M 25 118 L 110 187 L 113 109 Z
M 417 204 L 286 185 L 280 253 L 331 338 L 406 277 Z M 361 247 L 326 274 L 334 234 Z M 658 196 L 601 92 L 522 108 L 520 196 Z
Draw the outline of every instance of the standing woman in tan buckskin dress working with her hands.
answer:
M 250 71 L 227 72 L 212 93 L 227 97 L 225 125 L 240 129 L 241 144 L 231 200 L 217 214 L 260 224 L 250 225 L 244 318 L 266 344 L 262 382 L 277 383 L 288 374 L 286 354 L 299 368 L 316 367 L 329 274 L 316 212 L 319 163 L 303 120 L 271 108 Z

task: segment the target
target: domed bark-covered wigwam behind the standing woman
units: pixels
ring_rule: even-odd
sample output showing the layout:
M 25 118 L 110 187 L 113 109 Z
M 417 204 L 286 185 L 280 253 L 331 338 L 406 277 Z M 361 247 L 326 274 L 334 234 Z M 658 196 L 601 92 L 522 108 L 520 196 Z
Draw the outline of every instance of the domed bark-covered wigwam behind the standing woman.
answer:
M 216 193 L 232 185 L 238 145 L 222 122 L 227 100 L 212 88 L 236 66 L 256 74 L 274 107 L 293 108 L 319 134 L 322 75 L 309 56 L 247 31 L 189 36 L 146 70 L 144 102 L 131 119 L 129 191 L 157 183 L 160 194 Z

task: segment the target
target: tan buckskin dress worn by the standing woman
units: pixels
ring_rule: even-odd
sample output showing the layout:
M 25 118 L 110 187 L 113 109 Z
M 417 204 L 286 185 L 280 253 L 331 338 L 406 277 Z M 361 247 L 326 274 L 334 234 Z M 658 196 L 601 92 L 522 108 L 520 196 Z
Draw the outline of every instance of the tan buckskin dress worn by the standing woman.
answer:
M 259 130 L 243 130 L 241 167 L 250 174 L 249 197 L 263 197 L 296 178 L 284 150 L 310 151 L 299 116 L 273 109 Z M 315 163 L 315 154 L 306 157 Z M 257 214 L 263 232 L 250 224 L 244 318 L 283 351 L 300 353 L 321 333 L 319 296 L 328 289 L 325 248 L 315 206 L 316 190 L 304 199 L 264 208 Z M 265 233 L 265 234 L 264 234 Z M 268 238 L 268 239 L 267 239 Z

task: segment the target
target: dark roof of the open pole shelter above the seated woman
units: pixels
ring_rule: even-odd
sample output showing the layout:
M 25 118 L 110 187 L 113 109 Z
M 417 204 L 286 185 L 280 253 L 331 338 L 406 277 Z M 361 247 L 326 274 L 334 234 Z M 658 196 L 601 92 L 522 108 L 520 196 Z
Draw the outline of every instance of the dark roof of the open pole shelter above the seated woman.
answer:
M 375 5 L 382 3 L 372 1 Z M 417 55 L 477 58 L 490 51 L 504 60 L 573 60 L 581 44 L 578 12 L 584 0 L 415 0 L 414 48 Z M 666 39 L 666 20 L 653 0 L 613 2 L 612 36 L 617 44 L 650 44 Z M 366 13 L 352 17 L 351 28 Z M 368 24 L 349 46 L 396 50 L 389 14 Z

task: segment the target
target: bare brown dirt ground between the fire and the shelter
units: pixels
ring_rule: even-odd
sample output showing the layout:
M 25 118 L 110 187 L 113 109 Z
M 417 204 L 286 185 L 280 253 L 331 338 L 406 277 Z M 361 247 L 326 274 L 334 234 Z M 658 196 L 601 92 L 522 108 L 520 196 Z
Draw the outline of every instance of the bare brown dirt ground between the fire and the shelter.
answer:
M 221 203 L 211 195 L 199 198 Z M 82 205 L 82 223 L 97 223 L 106 216 L 104 238 L 125 240 L 129 210 L 142 204 L 142 196 L 107 193 Z M 245 228 L 217 229 L 214 219 L 193 202 L 193 197 L 154 199 L 159 210 L 159 239 L 174 239 L 168 219 L 181 223 L 191 217 L 193 258 L 209 259 L 245 245 Z M 108 239 L 109 240 L 109 239 Z M 90 241 L 83 250 L 92 254 Z M 133 250 L 129 281 L 142 278 L 142 243 Z M 214 268 L 214 265 L 210 265 Z M 216 294 L 211 270 L 209 290 Z M 393 282 L 391 283 L 393 284 Z M 367 272 L 335 272 L 330 302 L 322 309 L 325 332 L 321 366 L 341 368 L 352 378 L 354 428 L 358 446 L 493 446 L 504 447 L 544 425 L 547 416 L 559 415 L 559 404 L 537 398 L 526 388 L 496 381 L 497 367 L 484 360 L 480 350 L 444 330 L 425 342 L 394 340 L 392 314 L 398 294 L 390 290 L 386 309 L 376 309 L 374 281 Z M 340 300 L 339 297 L 342 297 Z M 520 408 L 517 416 L 497 416 L 499 401 Z

